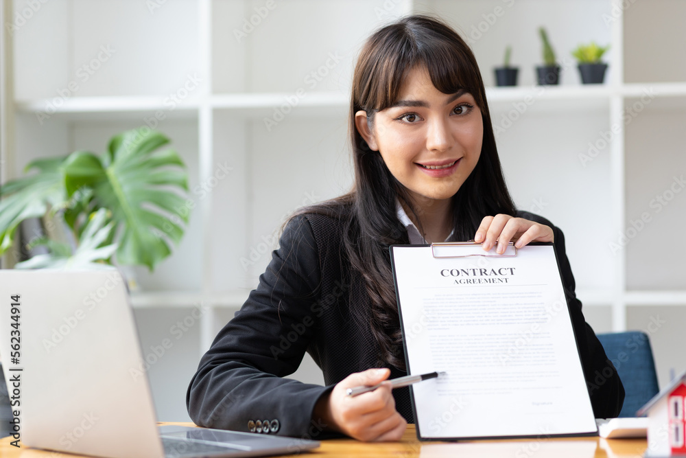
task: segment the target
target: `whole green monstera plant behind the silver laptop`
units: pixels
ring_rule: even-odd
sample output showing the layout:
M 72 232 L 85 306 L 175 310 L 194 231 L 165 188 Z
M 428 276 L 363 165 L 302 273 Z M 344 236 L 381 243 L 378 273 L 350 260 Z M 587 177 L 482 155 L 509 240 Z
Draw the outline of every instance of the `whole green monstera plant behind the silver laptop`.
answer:
M 151 271 L 171 254 L 187 224 L 188 174 L 165 135 L 147 128 L 113 137 L 104 154 L 76 151 L 27 165 L 36 172 L 0 187 L 0 255 L 16 240 L 19 224 L 43 218 L 50 231 L 29 247 L 49 253 L 17 268 L 143 265 Z M 49 229 L 49 227 L 46 227 Z M 63 233 L 55 237 L 51 233 Z

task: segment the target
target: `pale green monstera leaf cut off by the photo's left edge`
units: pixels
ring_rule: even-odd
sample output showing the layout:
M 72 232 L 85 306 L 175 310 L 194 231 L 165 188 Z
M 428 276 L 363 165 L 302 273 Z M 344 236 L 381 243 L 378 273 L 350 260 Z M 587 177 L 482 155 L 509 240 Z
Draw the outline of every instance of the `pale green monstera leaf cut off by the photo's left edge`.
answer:
M 63 162 L 64 157 L 33 161 L 27 165 L 26 171 L 38 173 L 0 187 L 0 255 L 14 243 L 20 222 L 27 218 L 40 218 L 64 203 Z

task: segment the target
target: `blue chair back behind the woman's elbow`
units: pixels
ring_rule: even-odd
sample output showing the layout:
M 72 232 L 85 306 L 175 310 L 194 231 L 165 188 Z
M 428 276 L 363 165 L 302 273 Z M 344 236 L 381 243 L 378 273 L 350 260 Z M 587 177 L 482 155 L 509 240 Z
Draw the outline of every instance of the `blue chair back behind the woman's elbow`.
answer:
M 648 334 L 641 331 L 598 334 L 607 357 L 617 368 L 624 385 L 620 417 L 635 417 L 636 411 L 655 396 L 659 387 Z

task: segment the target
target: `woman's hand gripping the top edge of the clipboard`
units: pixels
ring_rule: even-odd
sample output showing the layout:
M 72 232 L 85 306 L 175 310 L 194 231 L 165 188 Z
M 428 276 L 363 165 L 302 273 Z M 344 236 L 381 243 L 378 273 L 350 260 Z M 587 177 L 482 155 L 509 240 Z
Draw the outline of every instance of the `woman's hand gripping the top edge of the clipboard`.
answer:
M 554 242 L 555 236 L 549 226 L 504 214 L 486 216 L 474 236 L 474 241 L 481 243 L 485 251 L 497 243 L 499 254 L 504 253 L 508 243 L 514 240 L 517 240 L 514 246 L 521 248 L 529 242 Z

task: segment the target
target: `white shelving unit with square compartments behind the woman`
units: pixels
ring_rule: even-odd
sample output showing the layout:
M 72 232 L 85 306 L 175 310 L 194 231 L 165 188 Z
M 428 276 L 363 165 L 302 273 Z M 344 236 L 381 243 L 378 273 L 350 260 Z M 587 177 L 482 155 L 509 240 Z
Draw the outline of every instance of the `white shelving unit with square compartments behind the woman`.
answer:
M 28 16 L 23 0 L 3 1 L 10 21 Z M 355 56 L 372 30 L 410 12 L 438 14 L 471 42 L 510 190 L 519 207 L 564 229 L 578 297 L 591 306 L 594 328 L 645 328 L 658 309 L 684 317 L 686 308 L 674 306 L 686 306 L 679 262 L 686 248 L 677 229 L 686 223 L 686 192 L 673 192 L 660 211 L 650 202 L 686 170 L 685 3 L 150 3 L 54 0 L 12 36 L 5 33 L 14 56 L 4 56 L 13 71 L 3 75 L 3 87 L 13 100 L 3 102 L 10 113 L 3 118 L 9 138 L 1 179 L 18 176 L 36 157 L 99 152 L 121 130 L 157 124 L 189 167 L 196 207 L 174 256 L 154 273 L 134 269 L 141 290 L 133 303 L 150 326 L 155 314 L 183 318 L 204 304 L 200 325 L 187 334 L 198 339 L 195 355 L 257 284 L 285 217 L 349 189 Z M 559 87 L 534 85 L 539 25 L 563 65 Z M 611 45 L 609 69 L 604 84 L 583 86 L 570 51 L 591 40 Z M 493 87 L 492 67 L 506 45 L 520 67 L 519 86 Z M 669 61 L 654 51 L 670 46 Z M 114 51 L 102 54 L 108 47 Z M 65 95 L 70 83 L 78 90 Z M 164 119 L 152 122 L 156 115 Z M 650 221 L 633 234 L 631 222 L 646 212 Z M 612 249 L 622 233 L 628 243 Z M 673 345 L 683 346 L 681 334 L 654 343 L 656 353 Z M 674 352 L 670 358 L 661 378 L 677 364 Z M 191 374 L 196 363 L 197 356 Z

